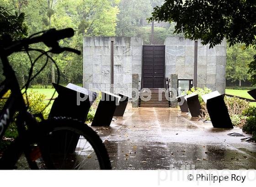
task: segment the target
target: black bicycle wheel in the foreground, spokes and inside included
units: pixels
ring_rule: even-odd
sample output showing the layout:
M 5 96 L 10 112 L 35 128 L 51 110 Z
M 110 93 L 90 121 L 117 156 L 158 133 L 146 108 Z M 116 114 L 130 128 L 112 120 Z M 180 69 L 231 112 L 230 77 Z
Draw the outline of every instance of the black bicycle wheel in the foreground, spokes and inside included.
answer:
M 43 157 L 44 164 L 42 158 L 39 161 L 37 159 L 39 169 L 51 164 L 54 169 L 65 170 L 111 169 L 105 145 L 96 132 L 86 124 L 59 117 L 43 121 L 40 125 L 44 131 L 42 146 L 47 153 Z M 47 163 L 49 161 L 52 163 Z

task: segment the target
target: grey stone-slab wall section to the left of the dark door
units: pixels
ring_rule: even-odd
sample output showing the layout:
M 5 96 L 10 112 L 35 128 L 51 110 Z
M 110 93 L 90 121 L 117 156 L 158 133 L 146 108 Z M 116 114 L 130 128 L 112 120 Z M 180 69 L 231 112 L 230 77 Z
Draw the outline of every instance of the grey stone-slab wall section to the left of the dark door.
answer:
M 115 93 L 132 88 L 132 74 L 141 77 L 141 37 L 84 37 L 84 80 L 85 88 L 110 91 L 111 41 L 114 42 L 114 88 Z M 93 89 L 90 88 L 90 89 Z

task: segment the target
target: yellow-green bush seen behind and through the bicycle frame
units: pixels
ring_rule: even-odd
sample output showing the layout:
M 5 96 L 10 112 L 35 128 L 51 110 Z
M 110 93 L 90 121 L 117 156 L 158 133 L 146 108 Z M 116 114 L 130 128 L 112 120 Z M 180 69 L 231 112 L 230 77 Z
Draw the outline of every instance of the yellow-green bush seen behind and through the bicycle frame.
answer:
M 0 110 L 2 110 L 4 108 L 5 102 L 7 100 L 7 98 L 9 98 L 11 95 L 11 92 L 8 91 L 7 93 L 5 93 L 5 95 L 3 96 L 3 99 L 0 99 Z M 38 94 L 37 92 L 33 92 L 31 91 L 28 95 L 27 95 L 27 99 L 26 96 L 24 95 L 23 98 L 25 100 L 26 104 L 29 104 L 28 106 L 28 111 L 31 114 L 39 114 L 40 112 L 42 112 L 43 117 L 47 118 L 48 117 L 48 111 L 43 110 L 46 107 L 46 103 L 43 101 L 43 99 L 45 99 L 45 95 L 44 94 Z M 27 102 L 28 101 L 28 102 Z M 0 142 L 0 150 L 4 149 L 6 147 L 6 145 L 9 145 L 11 143 L 11 141 L 16 138 L 16 136 L 18 135 L 17 132 L 17 126 L 16 126 L 16 117 L 17 117 L 16 113 L 13 117 L 13 122 L 11 122 L 11 124 L 9 125 L 8 129 L 5 132 L 5 135 L 3 137 L 3 140 Z M 40 120 L 40 119 L 38 119 Z

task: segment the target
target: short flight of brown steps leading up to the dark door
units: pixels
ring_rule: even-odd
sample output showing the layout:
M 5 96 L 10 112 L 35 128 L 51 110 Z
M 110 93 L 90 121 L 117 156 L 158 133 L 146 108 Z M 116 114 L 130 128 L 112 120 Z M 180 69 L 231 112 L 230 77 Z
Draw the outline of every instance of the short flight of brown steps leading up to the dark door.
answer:
M 140 107 L 169 107 L 169 101 L 165 98 L 165 92 L 161 92 L 162 90 L 163 88 L 150 88 L 151 99 L 149 101 L 143 101 L 142 96 L 147 98 L 150 94 L 142 89 L 140 92 Z

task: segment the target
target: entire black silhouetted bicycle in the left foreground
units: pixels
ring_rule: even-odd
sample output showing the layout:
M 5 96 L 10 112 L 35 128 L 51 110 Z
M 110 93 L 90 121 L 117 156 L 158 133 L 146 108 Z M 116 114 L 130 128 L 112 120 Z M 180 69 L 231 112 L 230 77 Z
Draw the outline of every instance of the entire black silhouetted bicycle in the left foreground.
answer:
M 40 114 L 32 115 L 27 111 L 23 98 L 23 94 L 27 94 L 29 83 L 46 67 L 49 59 L 55 64 L 59 74 L 58 66 L 48 53 L 69 51 L 80 54 L 75 49 L 59 46 L 59 40 L 72 36 L 74 30 L 71 28 L 50 29 L 18 41 L 5 39 L 0 43 L 0 58 L 5 75 L 5 81 L 0 84 L 0 98 L 11 90 L 11 95 L 0 112 L 0 140 L 5 137 L 14 115 L 17 115 L 18 130 L 17 138 L 2 153 L 0 169 L 24 169 L 25 165 L 31 169 L 111 169 L 107 150 L 94 130 L 76 119 L 57 117 L 44 120 Z M 30 47 L 38 42 L 43 42 L 50 50 L 45 52 Z M 41 54 L 34 62 L 31 60 L 27 83 L 20 88 L 7 57 L 13 52 L 22 51 L 28 55 L 30 51 Z M 33 66 L 42 56 L 47 57 L 46 63 L 40 71 L 33 74 Z M 37 122 L 36 117 L 40 117 L 41 122 Z

